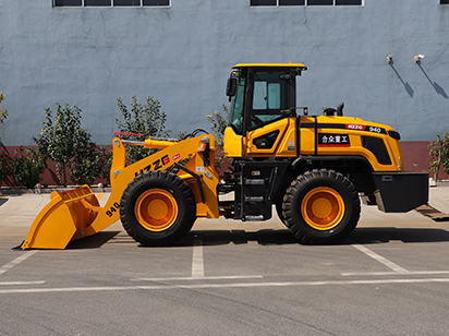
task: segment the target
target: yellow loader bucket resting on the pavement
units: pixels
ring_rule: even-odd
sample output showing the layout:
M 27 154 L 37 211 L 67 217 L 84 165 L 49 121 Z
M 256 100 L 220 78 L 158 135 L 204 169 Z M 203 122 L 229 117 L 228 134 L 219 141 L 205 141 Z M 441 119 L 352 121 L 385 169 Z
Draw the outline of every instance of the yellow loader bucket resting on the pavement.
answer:
M 21 249 L 65 249 L 85 237 L 85 229 L 97 217 L 98 200 L 88 185 L 64 192 L 53 191 L 40 211 Z

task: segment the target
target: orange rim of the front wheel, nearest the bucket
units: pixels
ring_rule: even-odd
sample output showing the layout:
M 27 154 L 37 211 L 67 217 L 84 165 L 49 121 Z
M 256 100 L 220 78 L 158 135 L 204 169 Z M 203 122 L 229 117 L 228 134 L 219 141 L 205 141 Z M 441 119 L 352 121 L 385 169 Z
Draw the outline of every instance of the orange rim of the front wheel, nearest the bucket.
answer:
M 163 189 L 147 190 L 135 203 L 138 223 L 150 231 L 163 231 L 171 227 L 178 213 L 177 200 Z

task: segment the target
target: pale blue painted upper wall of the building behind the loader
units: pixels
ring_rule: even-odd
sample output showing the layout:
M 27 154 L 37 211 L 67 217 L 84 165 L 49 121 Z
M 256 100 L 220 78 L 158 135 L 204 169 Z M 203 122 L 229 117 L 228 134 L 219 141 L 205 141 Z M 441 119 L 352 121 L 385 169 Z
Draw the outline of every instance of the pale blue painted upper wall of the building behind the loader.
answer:
M 449 5 L 365 0 L 364 7 L 251 8 L 247 0 L 172 0 L 171 8 L 52 8 L 0 2 L 5 145 L 32 143 L 54 103 L 78 105 L 83 125 L 110 143 L 117 97 L 159 99 L 167 127 L 209 128 L 239 62 L 302 62 L 300 106 L 345 101 L 345 115 L 392 125 L 405 141 L 449 127 Z M 414 56 L 426 57 L 421 65 Z M 392 64 L 387 55 L 393 55 Z

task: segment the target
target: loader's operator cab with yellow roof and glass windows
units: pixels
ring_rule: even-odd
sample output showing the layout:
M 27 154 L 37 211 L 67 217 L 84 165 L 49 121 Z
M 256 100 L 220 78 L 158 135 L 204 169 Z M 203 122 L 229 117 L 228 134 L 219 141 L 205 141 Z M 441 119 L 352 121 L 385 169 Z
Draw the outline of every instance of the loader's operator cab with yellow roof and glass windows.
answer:
M 275 147 L 279 147 L 281 133 L 292 127 L 287 119 L 296 117 L 296 76 L 306 69 L 300 63 L 233 67 L 227 85 L 231 101 L 229 124 L 225 131 L 227 156 L 274 154 Z M 279 123 L 284 119 L 286 122 Z M 284 147 L 280 151 L 283 154 L 277 153 L 279 156 L 295 154 L 295 151 L 287 149 L 288 144 Z

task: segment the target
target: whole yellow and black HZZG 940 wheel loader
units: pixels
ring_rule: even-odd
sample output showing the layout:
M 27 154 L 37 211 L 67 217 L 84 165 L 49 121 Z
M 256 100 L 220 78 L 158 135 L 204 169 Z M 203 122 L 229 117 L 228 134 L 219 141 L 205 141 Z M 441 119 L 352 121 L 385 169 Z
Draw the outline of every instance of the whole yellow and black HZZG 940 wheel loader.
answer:
M 397 131 L 344 117 L 343 104 L 317 115 L 296 106 L 296 81 L 305 70 L 301 63 L 232 68 L 223 136 L 232 164 L 223 176 L 215 167 L 213 134 L 114 137 L 106 205 L 87 185 L 53 192 L 21 248 L 64 249 L 119 219 L 138 243 L 168 245 L 198 217 L 260 221 L 274 209 L 300 242 L 332 243 L 355 228 L 361 201 L 386 213 L 426 204 L 428 175 L 404 171 Z M 126 166 L 125 145 L 158 151 Z

